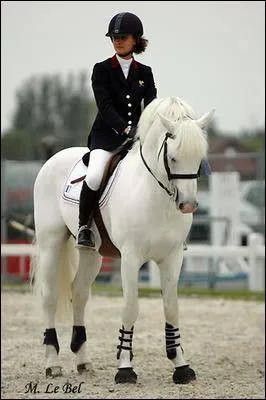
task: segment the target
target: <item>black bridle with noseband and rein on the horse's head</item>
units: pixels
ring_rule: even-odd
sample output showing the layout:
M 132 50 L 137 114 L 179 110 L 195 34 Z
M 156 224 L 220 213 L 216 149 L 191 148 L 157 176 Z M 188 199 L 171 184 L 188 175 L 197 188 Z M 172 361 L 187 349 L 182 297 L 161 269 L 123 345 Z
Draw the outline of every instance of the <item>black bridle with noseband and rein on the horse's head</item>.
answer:
M 160 147 L 160 150 L 159 150 L 158 156 L 157 156 L 157 159 L 159 160 L 160 153 L 161 153 L 161 151 L 162 151 L 162 149 L 163 149 L 164 167 L 165 167 L 165 170 L 166 170 L 166 173 L 167 173 L 167 177 L 168 177 L 169 182 L 170 182 L 172 179 L 197 179 L 197 178 L 199 178 L 199 176 L 200 176 L 200 170 L 201 170 L 201 163 L 200 163 L 198 172 L 197 172 L 196 174 L 172 174 L 172 173 L 171 173 L 170 167 L 169 167 L 169 164 L 168 164 L 168 158 L 167 158 L 167 149 L 168 149 L 168 147 L 167 147 L 167 140 L 168 140 L 169 138 L 171 138 L 171 137 L 173 137 L 172 134 L 169 133 L 169 132 L 166 132 L 165 138 L 164 138 L 164 140 L 163 140 L 163 142 L 162 142 L 162 145 L 161 145 L 161 147 Z M 148 164 L 147 164 L 147 162 L 146 162 L 146 160 L 145 160 L 145 158 L 144 158 L 144 156 L 143 156 L 142 145 L 141 145 L 141 143 L 140 143 L 139 150 L 140 150 L 141 159 L 142 159 L 142 161 L 143 161 L 145 167 L 147 168 L 147 170 L 148 170 L 148 171 L 150 172 L 150 174 L 154 177 L 154 179 L 157 181 L 157 183 L 159 184 L 159 186 L 160 186 L 162 189 L 164 189 L 164 190 L 166 191 L 166 193 L 167 193 L 171 198 L 174 198 L 174 199 L 176 200 L 176 197 L 178 196 L 177 189 L 174 188 L 174 190 L 171 191 L 171 190 L 169 190 L 162 182 L 160 182 L 159 179 L 157 179 L 157 177 L 154 175 L 154 173 L 152 172 L 152 170 L 151 170 L 150 167 L 148 166 Z

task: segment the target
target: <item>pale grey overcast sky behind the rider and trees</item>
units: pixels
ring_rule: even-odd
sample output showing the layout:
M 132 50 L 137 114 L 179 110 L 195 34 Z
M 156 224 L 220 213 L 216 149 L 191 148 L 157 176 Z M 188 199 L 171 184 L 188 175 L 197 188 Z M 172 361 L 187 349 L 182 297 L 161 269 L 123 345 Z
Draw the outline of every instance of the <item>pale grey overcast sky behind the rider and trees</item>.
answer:
M 87 69 L 90 85 L 124 11 L 143 22 L 149 46 L 135 58 L 152 67 L 159 97 L 181 97 L 198 116 L 216 108 L 225 133 L 264 125 L 264 1 L 2 1 L 1 130 L 32 75 Z

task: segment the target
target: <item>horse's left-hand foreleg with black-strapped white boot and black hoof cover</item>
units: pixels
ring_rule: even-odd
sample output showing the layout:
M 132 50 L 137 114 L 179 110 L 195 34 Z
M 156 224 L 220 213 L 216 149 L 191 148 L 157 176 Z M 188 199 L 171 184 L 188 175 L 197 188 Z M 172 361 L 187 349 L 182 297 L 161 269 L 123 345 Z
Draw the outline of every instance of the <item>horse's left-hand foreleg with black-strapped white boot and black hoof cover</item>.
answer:
M 137 374 L 132 367 L 133 329 L 138 316 L 138 262 L 131 257 L 122 256 L 121 279 L 124 296 L 122 328 L 119 330 L 117 346 L 118 372 L 116 383 L 136 383 Z

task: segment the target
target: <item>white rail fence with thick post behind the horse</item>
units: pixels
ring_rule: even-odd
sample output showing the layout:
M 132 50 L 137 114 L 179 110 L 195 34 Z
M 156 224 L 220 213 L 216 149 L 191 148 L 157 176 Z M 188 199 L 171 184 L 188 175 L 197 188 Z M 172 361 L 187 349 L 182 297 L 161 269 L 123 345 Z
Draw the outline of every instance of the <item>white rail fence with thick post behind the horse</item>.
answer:
M 36 247 L 31 244 L 2 244 L 1 256 L 30 256 L 34 254 Z M 247 246 L 210 246 L 189 245 L 184 252 L 187 257 L 206 257 L 245 260 L 239 263 L 244 266 L 243 271 L 248 273 L 248 286 L 252 291 L 265 290 L 265 245 L 264 237 L 258 233 L 248 236 Z M 155 263 L 149 263 L 149 286 L 160 287 L 158 267 Z

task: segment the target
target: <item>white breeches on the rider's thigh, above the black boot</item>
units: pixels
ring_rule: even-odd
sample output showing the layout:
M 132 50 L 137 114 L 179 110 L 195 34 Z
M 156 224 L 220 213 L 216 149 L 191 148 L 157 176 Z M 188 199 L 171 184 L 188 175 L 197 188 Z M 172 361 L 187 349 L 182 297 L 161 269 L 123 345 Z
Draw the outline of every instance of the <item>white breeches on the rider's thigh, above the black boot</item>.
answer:
M 90 153 L 90 161 L 88 165 L 85 182 L 92 190 L 98 190 L 106 164 L 110 161 L 114 152 L 102 149 L 92 150 Z

